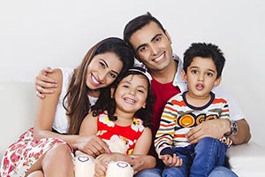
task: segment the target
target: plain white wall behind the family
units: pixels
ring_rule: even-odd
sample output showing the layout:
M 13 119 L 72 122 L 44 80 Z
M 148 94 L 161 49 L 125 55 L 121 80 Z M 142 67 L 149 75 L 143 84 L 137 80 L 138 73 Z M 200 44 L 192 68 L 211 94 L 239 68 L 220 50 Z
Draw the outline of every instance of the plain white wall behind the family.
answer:
M 225 53 L 223 85 L 261 141 L 265 116 L 262 0 L 0 0 L 0 81 L 34 81 L 43 66 L 74 67 L 87 49 L 147 11 L 160 19 L 180 57 L 191 42 L 213 42 Z

